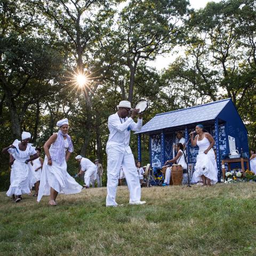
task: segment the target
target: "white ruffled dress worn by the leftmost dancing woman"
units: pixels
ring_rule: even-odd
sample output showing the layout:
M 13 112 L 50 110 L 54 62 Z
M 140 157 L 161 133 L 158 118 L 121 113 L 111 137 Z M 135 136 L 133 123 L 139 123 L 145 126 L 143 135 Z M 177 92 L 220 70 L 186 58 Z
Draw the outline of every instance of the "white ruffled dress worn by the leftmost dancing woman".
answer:
M 25 161 L 30 158 L 31 155 L 36 154 L 34 147 L 28 143 L 25 151 L 19 149 L 20 141 L 15 140 L 13 146 L 15 148 L 8 149 L 8 152 L 13 155 L 15 161 L 12 165 L 11 172 L 11 185 L 7 191 L 7 196 L 19 196 L 22 194 L 29 194 L 31 185 L 35 183 L 35 176 L 30 163 L 26 164 Z M 33 183 L 34 182 L 34 183 Z

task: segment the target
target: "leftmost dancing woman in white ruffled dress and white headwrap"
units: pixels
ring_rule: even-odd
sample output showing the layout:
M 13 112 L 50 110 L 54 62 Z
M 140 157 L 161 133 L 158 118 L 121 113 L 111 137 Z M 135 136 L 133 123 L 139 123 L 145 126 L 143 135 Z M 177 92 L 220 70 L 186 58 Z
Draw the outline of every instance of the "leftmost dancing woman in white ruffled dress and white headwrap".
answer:
M 15 159 L 12 164 L 11 185 L 6 195 L 13 197 L 16 203 L 21 200 L 22 194 L 30 194 L 31 182 L 35 181 L 32 166 L 28 163 L 38 158 L 38 155 L 31 143 L 28 143 L 30 137 L 29 132 L 22 132 L 21 141 L 15 140 L 2 151 L 8 151 Z

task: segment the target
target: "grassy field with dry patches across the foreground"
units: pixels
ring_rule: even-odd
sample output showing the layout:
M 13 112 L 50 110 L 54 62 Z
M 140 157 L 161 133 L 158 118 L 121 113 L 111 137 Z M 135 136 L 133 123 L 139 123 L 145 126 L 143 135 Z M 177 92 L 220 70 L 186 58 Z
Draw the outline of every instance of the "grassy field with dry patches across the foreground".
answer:
M 0 194 L 0 255 L 256 255 L 256 183 L 127 187 L 105 207 L 106 188 L 61 195 L 58 206 Z

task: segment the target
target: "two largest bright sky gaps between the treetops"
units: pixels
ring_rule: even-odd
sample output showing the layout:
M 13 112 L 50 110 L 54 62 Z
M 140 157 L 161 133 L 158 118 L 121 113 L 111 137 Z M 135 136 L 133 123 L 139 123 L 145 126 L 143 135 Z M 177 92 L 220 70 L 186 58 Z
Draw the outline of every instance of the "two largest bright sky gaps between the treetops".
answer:
M 190 8 L 200 9 L 204 8 L 208 2 L 220 2 L 221 0 L 189 0 Z M 170 63 L 172 63 L 179 55 L 183 55 L 182 49 L 174 49 L 177 53 L 168 53 L 165 55 L 159 55 L 156 57 L 154 61 L 148 61 L 148 65 L 156 68 L 157 70 L 161 70 L 163 68 L 167 68 Z M 179 51 L 180 50 L 180 51 Z

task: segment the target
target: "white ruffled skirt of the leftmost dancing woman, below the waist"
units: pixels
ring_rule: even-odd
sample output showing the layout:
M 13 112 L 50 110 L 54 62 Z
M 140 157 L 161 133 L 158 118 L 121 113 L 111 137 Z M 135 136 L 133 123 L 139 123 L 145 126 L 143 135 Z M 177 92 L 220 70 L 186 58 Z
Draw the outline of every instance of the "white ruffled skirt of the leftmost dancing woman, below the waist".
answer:
M 30 164 L 25 162 L 14 161 L 11 171 L 11 185 L 7 191 L 7 196 L 19 196 L 22 194 L 30 194 L 30 182 L 33 180 Z

